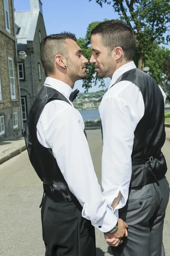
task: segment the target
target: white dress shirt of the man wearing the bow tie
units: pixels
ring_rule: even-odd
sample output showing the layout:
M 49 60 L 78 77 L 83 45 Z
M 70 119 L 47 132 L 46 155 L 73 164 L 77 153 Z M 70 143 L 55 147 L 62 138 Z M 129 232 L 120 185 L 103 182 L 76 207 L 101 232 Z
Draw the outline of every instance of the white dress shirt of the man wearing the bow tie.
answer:
M 57 79 L 47 77 L 45 84 L 67 99 L 72 92 L 68 84 Z M 45 148 L 52 149 L 70 191 L 83 207 L 82 216 L 102 232 L 108 232 L 116 225 L 117 217 L 102 196 L 82 116 L 70 103 L 54 100 L 45 105 L 37 123 L 37 137 Z

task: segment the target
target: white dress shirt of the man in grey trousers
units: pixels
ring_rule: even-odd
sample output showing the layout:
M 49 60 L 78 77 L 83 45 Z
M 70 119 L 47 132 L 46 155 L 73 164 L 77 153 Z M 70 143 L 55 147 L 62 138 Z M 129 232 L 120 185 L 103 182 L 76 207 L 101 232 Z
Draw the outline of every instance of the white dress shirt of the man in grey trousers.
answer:
M 131 61 L 113 73 L 108 91 L 99 105 L 103 128 L 102 195 L 111 205 L 121 192 L 119 204 L 114 209 L 117 217 L 118 209 L 125 206 L 128 198 L 134 131 L 144 116 L 144 100 L 139 87 L 130 81 L 111 86 L 119 76 L 133 68 L 136 65 Z M 161 92 L 165 102 L 166 95 L 162 89 Z

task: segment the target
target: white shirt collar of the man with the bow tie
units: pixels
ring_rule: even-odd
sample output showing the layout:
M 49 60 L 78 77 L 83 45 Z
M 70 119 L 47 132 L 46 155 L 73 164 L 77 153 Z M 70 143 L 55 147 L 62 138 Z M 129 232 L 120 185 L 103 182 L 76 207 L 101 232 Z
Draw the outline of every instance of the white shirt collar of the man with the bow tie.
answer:
M 45 79 L 44 85 L 45 84 L 50 85 L 54 89 L 58 90 L 60 93 L 67 96 L 68 99 L 73 91 L 68 84 L 65 84 L 64 82 L 57 80 L 55 78 L 52 78 L 52 77 L 47 77 Z

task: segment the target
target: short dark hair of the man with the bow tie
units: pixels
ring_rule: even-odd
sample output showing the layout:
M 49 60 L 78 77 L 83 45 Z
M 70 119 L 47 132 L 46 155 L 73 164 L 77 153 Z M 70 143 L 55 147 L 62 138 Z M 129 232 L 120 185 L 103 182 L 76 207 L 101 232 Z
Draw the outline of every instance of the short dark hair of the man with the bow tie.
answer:
M 69 58 L 65 44 L 66 39 L 77 41 L 76 36 L 70 32 L 61 32 L 46 36 L 41 42 L 40 59 L 45 70 L 45 75 L 54 74 L 54 57 L 57 54 Z

